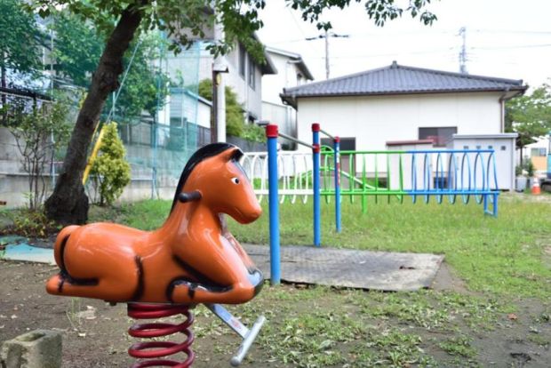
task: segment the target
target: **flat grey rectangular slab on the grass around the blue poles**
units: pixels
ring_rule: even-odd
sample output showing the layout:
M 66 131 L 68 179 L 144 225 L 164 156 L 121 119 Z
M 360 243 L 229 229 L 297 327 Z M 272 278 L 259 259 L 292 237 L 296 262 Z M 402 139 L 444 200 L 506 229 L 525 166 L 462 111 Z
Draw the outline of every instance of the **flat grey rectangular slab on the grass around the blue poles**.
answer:
M 268 278 L 269 247 L 244 244 L 244 249 Z M 290 283 L 415 291 L 431 286 L 442 261 L 435 254 L 282 246 L 281 276 Z

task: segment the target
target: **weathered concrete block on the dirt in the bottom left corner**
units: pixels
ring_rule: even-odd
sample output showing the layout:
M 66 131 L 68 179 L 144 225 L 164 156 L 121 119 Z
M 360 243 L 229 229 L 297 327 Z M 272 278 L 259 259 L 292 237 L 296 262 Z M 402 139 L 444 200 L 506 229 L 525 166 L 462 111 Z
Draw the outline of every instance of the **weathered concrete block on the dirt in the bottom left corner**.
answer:
M 60 368 L 61 334 L 36 330 L 0 345 L 1 368 Z

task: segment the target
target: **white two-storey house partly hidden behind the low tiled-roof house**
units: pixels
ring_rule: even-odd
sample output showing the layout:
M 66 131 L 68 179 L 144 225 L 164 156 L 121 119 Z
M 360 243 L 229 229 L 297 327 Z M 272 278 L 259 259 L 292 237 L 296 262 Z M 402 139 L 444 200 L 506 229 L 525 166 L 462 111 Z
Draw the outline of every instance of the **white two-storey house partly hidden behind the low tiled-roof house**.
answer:
M 277 74 L 262 78 L 262 120 L 279 125 L 280 131 L 295 135 L 297 112 L 283 104 L 279 94 L 284 88 L 296 87 L 314 80 L 299 53 L 267 47 L 266 52 L 274 62 Z

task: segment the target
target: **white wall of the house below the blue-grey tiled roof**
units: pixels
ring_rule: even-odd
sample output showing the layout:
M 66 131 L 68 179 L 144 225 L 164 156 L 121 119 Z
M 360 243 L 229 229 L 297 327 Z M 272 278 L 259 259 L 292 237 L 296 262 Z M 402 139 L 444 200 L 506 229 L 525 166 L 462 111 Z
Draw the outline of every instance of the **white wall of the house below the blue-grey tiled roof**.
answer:
M 457 126 L 458 134 L 501 131 L 499 93 L 493 92 L 301 98 L 298 119 L 299 140 L 311 141 L 311 124 L 320 123 L 333 135 L 355 137 L 356 150 L 417 140 L 419 127 Z

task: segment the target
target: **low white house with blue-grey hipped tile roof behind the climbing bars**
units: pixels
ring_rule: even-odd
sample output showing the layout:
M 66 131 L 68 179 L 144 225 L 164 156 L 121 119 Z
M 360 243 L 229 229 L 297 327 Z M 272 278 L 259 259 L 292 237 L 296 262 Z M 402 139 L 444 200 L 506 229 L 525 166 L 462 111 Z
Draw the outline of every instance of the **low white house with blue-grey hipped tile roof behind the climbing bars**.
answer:
M 394 61 L 384 68 L 285 88 L 282 100 L 297 109 L 299 140 L 310 141 L 311 124 L 320 123 L 340 137 L 342 149 L 384 150 L 389 141 L 427 139 L 445 148 L 453 134 L 503 133 L 505 101 L 526 88 L 522 80 Z M 507 165 L 514 167 L 514 160 Z

